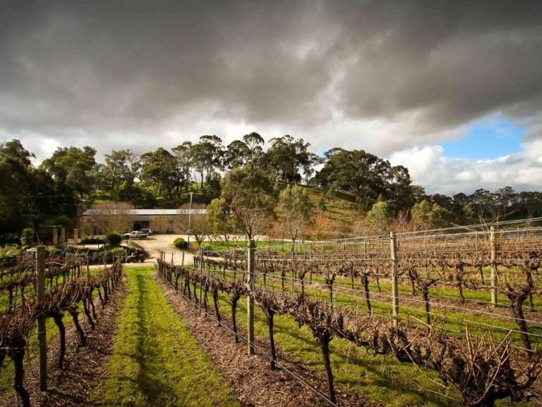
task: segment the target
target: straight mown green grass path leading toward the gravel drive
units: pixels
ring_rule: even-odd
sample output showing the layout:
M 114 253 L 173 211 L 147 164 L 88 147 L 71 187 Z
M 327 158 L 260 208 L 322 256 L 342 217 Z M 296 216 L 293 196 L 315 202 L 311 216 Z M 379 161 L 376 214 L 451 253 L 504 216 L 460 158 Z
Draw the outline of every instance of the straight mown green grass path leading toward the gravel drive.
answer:
M 102 406 L 239 406 L 151 271 L 128 269 L 128 295 Z

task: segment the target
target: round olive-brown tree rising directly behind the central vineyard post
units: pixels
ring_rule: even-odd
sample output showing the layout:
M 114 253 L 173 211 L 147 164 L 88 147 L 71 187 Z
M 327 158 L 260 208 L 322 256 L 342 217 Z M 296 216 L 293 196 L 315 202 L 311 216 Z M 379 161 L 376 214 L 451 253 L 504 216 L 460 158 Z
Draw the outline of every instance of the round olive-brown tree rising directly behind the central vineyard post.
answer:
M 236 223 L 248 240 L 260 235 L 270 225 L 276 199 L 263 170 L 250 167 L 229 171 L 220 182 L 222 198 L 229 204 Z

